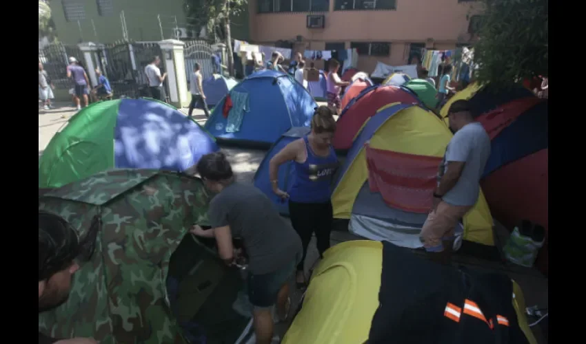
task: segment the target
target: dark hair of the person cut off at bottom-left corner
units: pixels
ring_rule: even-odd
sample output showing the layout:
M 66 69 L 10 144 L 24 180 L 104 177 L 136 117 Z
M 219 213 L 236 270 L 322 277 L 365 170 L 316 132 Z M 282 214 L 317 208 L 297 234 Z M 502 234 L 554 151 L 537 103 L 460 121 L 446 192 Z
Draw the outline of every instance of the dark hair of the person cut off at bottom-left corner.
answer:
M 63 217 L 39 210 L 39 281 L 70 266 L 80 247 L 76 230 Z

